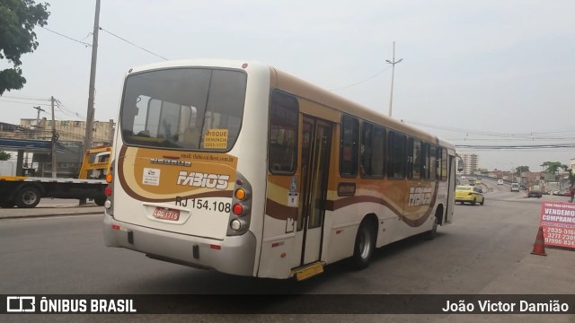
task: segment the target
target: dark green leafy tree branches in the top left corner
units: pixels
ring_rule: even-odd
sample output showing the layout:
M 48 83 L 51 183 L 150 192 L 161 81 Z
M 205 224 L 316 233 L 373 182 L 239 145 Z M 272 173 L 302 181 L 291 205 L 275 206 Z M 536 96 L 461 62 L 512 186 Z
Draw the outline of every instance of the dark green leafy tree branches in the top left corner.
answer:
M 38 48 L 33 30 L 36 25 L 41 27 L 47 23 L 48 6 L 35 4 L 33 0 L 0 0 L 0 59 L 7 59 L 13 65 L 0 71 L 0 95 L 24 87 L 26 79 L 22 76 L 20 57 Z

